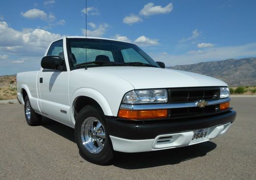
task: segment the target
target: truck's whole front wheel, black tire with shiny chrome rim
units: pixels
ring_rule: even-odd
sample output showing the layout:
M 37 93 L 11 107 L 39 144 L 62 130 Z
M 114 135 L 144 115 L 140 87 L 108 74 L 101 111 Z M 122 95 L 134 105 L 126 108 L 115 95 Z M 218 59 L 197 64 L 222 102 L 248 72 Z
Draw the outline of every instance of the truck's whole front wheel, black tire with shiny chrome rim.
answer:
M 113 148 L 104 117 L 94 106 L 83 107 L 75 124 L 75 139 L 86 160 L 94 164 L 107 164 L 113 159 Z

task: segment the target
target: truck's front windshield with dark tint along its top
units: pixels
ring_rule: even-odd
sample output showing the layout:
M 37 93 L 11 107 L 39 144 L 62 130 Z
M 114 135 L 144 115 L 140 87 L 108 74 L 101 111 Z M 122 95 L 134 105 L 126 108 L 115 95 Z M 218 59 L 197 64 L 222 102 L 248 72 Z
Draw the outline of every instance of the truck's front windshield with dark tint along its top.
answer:
M 106 39 L 67 38 L 70 68 L 84 66 L 160 66 L 138 46 Z

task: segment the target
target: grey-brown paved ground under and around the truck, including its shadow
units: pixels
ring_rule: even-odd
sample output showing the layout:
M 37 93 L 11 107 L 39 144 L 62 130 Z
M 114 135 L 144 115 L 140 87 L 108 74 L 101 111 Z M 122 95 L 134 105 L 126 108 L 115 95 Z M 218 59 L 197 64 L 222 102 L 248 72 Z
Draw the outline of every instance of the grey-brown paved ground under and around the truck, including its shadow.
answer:
M 190 147 L 118 153 L 113 164 L 81 158 L 74 130 L 52 120 L 30 127 L 19 104 L 0 105 L 0 179 L 256 179 L 256 98 L 233 98 L 225 136 Z

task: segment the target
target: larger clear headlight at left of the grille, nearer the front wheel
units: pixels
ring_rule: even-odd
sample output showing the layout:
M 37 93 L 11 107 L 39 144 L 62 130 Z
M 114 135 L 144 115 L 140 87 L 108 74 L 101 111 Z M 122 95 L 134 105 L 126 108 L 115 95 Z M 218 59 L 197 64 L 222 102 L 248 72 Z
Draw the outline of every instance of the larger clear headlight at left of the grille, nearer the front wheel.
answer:
M 168 99 L 166 89 L 134 90 L 126 93 L 124 104 L 166 103 Z

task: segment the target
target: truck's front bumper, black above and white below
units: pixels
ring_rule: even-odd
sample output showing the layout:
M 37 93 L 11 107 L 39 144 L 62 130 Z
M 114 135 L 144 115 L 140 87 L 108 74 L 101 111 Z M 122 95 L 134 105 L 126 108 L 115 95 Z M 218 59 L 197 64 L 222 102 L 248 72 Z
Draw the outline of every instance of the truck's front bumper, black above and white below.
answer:
M 121 121 L 106 118 L 114 150 L 121 152 L 144 152 L 188 146 L 208 141 L 224 134 L 236 118 L 236 111 L 201 118 L 156 121 Z M 196 129 L 210 127 L 207 140 L 190 143 Z M 158 145 L 159 138 L 176 138 L 172 143 Z M 170 142 L 170 141 L 169 141 Z

